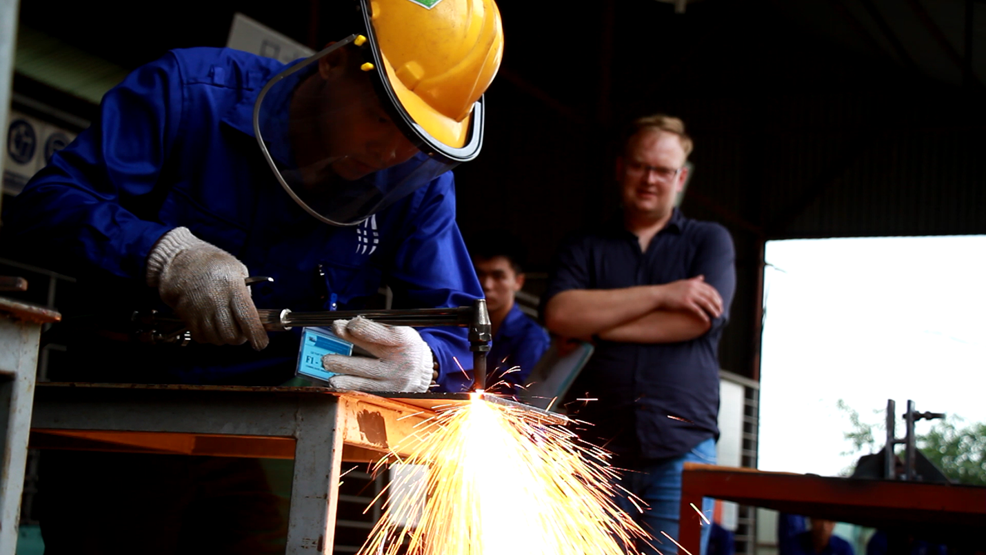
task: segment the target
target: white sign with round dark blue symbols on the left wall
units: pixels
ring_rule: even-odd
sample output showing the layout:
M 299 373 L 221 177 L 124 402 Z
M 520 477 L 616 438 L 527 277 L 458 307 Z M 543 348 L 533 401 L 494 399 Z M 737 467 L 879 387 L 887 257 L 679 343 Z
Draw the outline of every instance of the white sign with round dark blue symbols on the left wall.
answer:
M 14 109 L 8 113 L 6 130 L 3 191 L 8 194 L 20 193 L 52 154 L 75 139 L 71 131 Z

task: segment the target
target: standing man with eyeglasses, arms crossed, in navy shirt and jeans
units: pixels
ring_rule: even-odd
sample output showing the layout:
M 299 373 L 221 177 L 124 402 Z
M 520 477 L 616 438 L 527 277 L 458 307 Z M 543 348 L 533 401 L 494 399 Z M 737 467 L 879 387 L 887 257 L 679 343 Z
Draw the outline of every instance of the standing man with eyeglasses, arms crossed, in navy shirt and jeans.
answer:
M 714 463 L 719 437 L 718 345 L 736 289 L 735 252 L 721 225 L 685 218 L 675 196 L 692 141 L 676 117 L 633 122 L 616 161 L 622 212 L 559 249 L 542 312 L 551 331 L 591 337 L 596 352 L 570 391 L 584 439 L 625 469 L 616 502 L 675 551 L 681 469 Z M 575 401 L 574 399 L 582 399 Z M 587 401 L 585 399 L 593 399 Z M 711 516 L 711 500 L 703 504 Z M 708 541 L 703 526 L 702 551 Z

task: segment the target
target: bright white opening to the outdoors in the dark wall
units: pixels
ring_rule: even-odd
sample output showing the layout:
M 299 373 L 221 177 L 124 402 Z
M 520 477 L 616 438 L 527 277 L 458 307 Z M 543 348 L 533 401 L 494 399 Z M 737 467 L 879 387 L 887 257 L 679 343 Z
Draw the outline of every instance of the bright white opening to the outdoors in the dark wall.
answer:
M 760 469 L 853 465 L 838 399 L 986 422 L 986 236 L 774 241 L 766 261 Z

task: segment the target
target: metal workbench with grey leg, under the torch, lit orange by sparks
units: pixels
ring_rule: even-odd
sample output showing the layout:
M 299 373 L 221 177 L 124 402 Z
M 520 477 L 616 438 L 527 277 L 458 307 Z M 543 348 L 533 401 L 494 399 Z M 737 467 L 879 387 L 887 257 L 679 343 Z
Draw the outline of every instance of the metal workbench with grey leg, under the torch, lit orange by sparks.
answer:
M 464 393 L 394 395 L 400 398 L 323 387 L 38 383 L 31 447 L 294 458 L 287 553 L 327 554 L 341 462 L 403 452 L 433 407 L 468 402 Z

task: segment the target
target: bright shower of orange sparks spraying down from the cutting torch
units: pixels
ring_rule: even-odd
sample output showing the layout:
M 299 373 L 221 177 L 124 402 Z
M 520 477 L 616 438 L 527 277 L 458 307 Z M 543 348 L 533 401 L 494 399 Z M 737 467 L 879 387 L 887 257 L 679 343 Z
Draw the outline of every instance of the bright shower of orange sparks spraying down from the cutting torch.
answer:
M 397 458 L 427 465 L 427 477 L 391 483 L 401 493 L 360 555 L 639 555 L 635 540 L 649 536 L 613 503 L 615 471 L 596 462 L 605 453 L 537 413 L 482 399 L 472 394 L 410 439 Z

